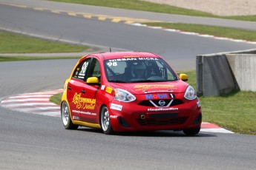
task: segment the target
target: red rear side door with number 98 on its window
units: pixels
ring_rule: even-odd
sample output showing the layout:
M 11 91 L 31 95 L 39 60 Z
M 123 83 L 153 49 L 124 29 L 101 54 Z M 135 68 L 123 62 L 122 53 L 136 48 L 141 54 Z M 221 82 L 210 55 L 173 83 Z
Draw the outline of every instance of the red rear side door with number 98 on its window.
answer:
M 74 69 L 72 78 L 68 82 L 67 97 L 73 120 L 82 120 L 81 109 L 85 104 L 85 80 L 88 75 L 91 60 L 92 58 L 85 58 L 84 61 L 80 62 Z

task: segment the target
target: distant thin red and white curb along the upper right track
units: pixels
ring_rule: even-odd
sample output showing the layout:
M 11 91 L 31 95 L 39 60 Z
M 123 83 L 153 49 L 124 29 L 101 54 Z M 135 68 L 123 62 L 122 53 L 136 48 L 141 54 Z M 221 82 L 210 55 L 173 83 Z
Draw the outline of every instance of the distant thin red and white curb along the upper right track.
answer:
M 147 24 L 134 23 L 131 25 L 134 25 L 137 27 L 148 27 L 148 28 L 157 29 L 157 30 L 165 30 L 165 31 L 172 32 L 172 33 L 181 33 L 181 34 L 186 34 L 186 35 L 196 35 L 196 36 L 200 36 L 200 37 L 214 38 L 214 39 L 219 39 L 219 40 L 234 41 L 234 42 L 241 42 L 241 43 L 247 43 L 247 44 L 256 44 L 255 41 L 246 41 L 246 40 L 239 40 L 239 39 L 233 39 L 233 38 L 218 37 L 218 36 L 214 36 L 214 35 L 192 33 L 192 32 L 187 32 L 187 31 L 169 29 L 169 28 L 165 28 L 165 27 L 154 27 L 154 26 L 150 26 Z

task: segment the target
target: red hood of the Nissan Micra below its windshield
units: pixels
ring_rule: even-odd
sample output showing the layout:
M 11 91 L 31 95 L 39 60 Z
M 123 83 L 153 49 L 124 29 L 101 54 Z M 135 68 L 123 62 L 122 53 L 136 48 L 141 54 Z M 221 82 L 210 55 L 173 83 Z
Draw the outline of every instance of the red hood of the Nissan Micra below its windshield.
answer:
M 133 94 L 145 94 L 155 92 L 185 92 L 188 84 L 184 81 L 169 81 L 155 83 L 111 84 L 114 88 L 125 89 Z

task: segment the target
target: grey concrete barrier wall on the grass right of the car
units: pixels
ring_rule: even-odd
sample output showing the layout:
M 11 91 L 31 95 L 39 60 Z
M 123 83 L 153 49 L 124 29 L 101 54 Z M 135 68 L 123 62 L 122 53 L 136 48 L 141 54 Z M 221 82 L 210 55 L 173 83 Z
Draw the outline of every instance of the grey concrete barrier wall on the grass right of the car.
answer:
M 256 92 L 256 50 L 197 55 L 197 95 Z

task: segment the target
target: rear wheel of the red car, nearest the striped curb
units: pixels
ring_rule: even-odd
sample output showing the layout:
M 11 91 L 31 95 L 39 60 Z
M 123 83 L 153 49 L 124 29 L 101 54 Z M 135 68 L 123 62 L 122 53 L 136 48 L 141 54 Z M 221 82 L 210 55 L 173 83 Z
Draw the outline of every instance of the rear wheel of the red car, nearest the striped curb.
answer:
M 72 120 L 70 118 L 68 103 L 66 101 L 62 102 L 61 114 L 62 114 L 62 123 L 63 123 L 65 129 L 77 129 L 78 128 L 77 125 L 74 125 L 72 123 Z

